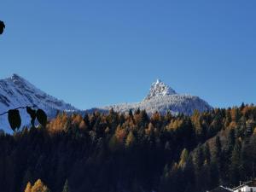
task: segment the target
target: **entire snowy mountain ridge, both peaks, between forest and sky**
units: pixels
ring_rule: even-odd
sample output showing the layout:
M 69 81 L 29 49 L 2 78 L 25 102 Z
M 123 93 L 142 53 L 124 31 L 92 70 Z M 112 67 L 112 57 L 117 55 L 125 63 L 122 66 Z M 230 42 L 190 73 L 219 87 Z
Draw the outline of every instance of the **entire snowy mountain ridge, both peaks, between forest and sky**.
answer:
M 85 110 L 79 110 L 69 103 L 50 96 L 16 73 L 9 78 L 0 79 L 0 113 L 12 108 L 26 106 L 42 108 L 47 113 L 49 119 L 54 118 L 55 114 L 59 111 L 84 114 L 93 113 L 97 110 L 107 113 L 112 108 L 119 113 L 127 113 L 130 110 L 135 111 L 137 108 L 140 108 L 146 110 L 149 115 L 156 111 L 160 113 L 171 112 L 173 114 L 184 113 L 190 115 L 195 110 L 200 112 L 212 110 L 212 107 L 199 96 L 177 94 L 175 90 L 160 79 L 151 84 L 148 95 L 141 102 L 121 103 Z M 22 119 L 21 126 L 30 124 L 30 117 L 26 110 L 20 110 L 20 116 Z M 4 131 L 10 131 L 8 129 L 7 114 L 0 116 L 1 128 Z

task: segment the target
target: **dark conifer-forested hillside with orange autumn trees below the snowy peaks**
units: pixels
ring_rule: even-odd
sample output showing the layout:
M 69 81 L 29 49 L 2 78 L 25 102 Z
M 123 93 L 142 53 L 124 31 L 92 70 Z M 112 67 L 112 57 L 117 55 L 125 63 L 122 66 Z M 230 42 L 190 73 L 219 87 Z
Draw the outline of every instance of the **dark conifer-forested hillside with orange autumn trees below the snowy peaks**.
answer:
M 243 104 L 191 116 L 59 113 L 46 127 L 1 133 L 0 190 L 33 192 L 43 182 L 52 192 L 236 185 L 254 175 L 255 121 L 256 107 Z

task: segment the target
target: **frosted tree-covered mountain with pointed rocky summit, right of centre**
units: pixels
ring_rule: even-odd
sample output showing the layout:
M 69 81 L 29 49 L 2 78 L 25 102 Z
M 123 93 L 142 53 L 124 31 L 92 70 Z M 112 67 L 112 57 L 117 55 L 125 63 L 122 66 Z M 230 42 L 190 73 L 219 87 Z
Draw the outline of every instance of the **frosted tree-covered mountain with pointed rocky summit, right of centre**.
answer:
M 192 114 L 195 109 L 203 112 L 212 110 L 212 107 L 198 96 L 190 96 L 186 94 L 177 94 L 167 84 L 164 84 L 159 79 L 151 85 L 148 96 L 142 102 L 123 103 L 111 105 L 102 108 L 93 108 L 88 112 L 99 110 L 107 111 L 113 108 L 114 111 L 125 113 L 137 108 L 145 109 L 148 114 L 156 111 L 166 113 L 170 111 L 173 114 L 185 113 Z

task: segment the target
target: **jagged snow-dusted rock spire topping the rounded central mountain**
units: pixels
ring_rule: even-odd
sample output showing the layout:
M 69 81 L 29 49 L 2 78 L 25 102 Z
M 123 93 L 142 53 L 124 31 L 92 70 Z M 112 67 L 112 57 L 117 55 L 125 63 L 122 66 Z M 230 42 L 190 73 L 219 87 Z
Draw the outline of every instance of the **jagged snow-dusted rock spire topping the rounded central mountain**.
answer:
M 175 90 L 172 90 L 167 84 L 163 83 L 160 79 L 154 82 L 149 90 L 148 96 L 144 100 L 152 99 L 156 96 L 168 96 L 177 94 Z

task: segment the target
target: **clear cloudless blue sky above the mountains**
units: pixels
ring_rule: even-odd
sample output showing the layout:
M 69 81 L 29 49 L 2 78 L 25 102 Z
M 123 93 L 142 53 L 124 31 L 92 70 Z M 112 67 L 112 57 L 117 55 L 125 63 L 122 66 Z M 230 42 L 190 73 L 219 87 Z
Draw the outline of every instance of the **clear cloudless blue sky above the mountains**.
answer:
M 0 78 L 91 108 L 155 79 L 213 107 L 256 103 L 256 1 L 3 0 Z

